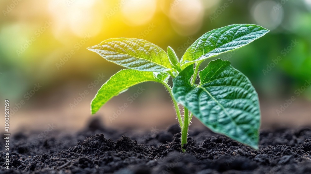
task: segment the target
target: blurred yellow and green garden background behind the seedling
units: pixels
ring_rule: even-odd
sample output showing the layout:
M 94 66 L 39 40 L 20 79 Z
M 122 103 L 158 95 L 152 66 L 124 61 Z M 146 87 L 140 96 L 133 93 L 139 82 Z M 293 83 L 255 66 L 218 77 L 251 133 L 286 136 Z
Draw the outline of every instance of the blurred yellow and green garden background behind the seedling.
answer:
M 122 69 L 88 51 L 89 46 L 109 38 L 139 38 L 165 50 L 171 46 L 181 57 L 205 32 L 240 23 L 271 30 L 218 57 L 230 60 L 252 81 L 261 101 L 262 126 L 311 123 L 311 87 L 305 86 L 299 96 L 295 93 L 311 78 L 311 0 L 2 0 L 0 9 L 0 98 L 18 108 L 16 130 L 29 129 L 34 122 L 44 127 L 60 121 L 59 127 L 70 129 L 85 124 L 100 85 Z M 99 74 L 105 78 L 97 83 Z M 38 83 L 42 87 L 31 93 Z M 122 119 L 110 122 L 109 115 L 137 87 L 101 109 L 107 126 L 151 127 L 163 124 L 161 119 L 167 119 L 165 124 L 175 121 L 165 89 L 149 82 L 143 87 L 146 92 L 122 112 Z M 85 90 L 90 94 L 72 107 Z M 298 99 L 278 115 L 276 109 L 292 96 Z M 19 105 L 21 100 L 25 104 Z

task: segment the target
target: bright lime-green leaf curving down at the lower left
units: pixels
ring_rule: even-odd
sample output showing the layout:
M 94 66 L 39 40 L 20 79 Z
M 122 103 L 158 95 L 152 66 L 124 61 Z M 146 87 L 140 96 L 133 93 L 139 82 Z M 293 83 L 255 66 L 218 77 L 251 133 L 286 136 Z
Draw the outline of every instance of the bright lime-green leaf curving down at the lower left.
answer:
M 153 72 L 125 69 L 114 74 L 97 92 L 91 103 L 92 114 L 112 97 L 125 92 L 129 87 L 138 83 L 156 80 Z

